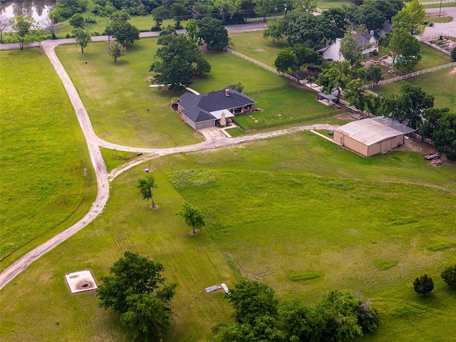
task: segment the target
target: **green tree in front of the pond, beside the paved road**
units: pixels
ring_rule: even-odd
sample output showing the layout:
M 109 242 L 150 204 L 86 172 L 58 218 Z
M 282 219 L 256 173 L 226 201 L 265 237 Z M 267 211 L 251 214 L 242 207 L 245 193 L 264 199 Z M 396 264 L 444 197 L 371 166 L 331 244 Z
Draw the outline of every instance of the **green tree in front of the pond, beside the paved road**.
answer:
M 6 43 L 18 43 L 19 49 L 24 46 L 41 40 L 41 31 L 38 23 L 31 16 L 15 16 L 9 19 L 12 32 L 6 39 Z

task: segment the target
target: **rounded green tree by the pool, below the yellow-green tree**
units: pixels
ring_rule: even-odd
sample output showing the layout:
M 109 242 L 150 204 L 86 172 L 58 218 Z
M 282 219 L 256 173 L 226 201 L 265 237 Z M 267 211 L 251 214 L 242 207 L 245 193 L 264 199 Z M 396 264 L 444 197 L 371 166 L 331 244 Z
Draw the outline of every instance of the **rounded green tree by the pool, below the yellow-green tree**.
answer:
M 420 42 L 405 31 L 405 28 L 397 28 L 391 34 L 389 47 L 395 67 L 400 73 L 413 72 L 421 61 Z

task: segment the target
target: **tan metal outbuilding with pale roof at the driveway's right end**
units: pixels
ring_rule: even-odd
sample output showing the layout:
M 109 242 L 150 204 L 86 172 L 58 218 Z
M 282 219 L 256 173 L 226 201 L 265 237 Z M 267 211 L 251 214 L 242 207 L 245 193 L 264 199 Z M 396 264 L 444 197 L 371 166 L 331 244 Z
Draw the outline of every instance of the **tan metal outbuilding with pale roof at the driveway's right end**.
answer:
M 370 118 L 347 123 L 334 130 L 333 140 L 365 157 L 404 145 L 405 135 L 415 130 L 389 118 Z

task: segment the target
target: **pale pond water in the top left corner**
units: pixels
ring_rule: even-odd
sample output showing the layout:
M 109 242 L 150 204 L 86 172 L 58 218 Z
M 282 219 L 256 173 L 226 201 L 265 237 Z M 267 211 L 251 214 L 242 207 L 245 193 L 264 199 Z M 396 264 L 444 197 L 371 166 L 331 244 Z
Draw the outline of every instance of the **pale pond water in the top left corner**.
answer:
M 10 19 L 14 16 L 31 16 L 40 22 L 48 18 L 56 1 L 8 1 L 0 4 L 0 15 Z

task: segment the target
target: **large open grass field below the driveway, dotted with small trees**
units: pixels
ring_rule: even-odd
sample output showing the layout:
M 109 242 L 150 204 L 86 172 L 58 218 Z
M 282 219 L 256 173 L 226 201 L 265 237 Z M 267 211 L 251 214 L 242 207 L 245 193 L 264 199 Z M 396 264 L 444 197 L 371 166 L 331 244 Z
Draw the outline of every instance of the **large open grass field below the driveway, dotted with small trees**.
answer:
M 179 283 L 163 341 L 210 341 L 232 310 L 204 287 L 240 276 L 309 306 L 330 289 L 362 294 L 381 322 L 356 341 L 455 336 L 456 297 L 439 276 L 456 262 L 455 166 L 431 167 L 412 152 L 367 159 L 309 132 L 153 163 L 158 209 L 135 189 L 142 166 L 116 179 L 95 222 L 0 292 L 2 341 L 120 340 L 116 316 L 93 293 L 69 294 L 63 276 L 91 269 L 99 279 L 125 250 L 162 262 Z M 197 236 L 175 215 L 184 200 L 207 215 Z M 424 273 L 435 281 L 426 298 L 412 285 Z

